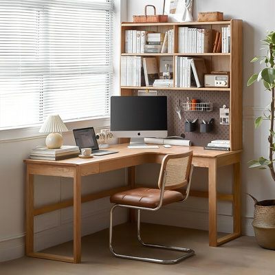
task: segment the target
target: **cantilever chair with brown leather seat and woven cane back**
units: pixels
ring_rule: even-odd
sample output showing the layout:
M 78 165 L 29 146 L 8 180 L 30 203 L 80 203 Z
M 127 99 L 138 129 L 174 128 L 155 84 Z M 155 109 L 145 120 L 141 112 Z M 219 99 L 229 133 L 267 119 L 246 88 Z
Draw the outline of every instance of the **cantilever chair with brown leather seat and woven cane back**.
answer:
M 110 212 L 109 228 L 109 248 L 114 256 L 137 261 L 171 264 L 178 263 L 195 254 L 195 252 L 189 248 L 144 243 L 140 236 L 140 210 L 156 211 L 164 205 L 185 201 L 188 198 L 192 177 L 191 162 L 192 151 L 183 154 L 166 155 L 162 160 L 162 166 L 160 168 L 158 188 L 135 188 L 124 192 L 118 192 L 110 197 L 111 203 L 115 203 Z M 185 195 L 183 195 L 184 193 Z M 118 206 L 137 209 L 137 239 L 142 245 L 151 248 L 175 250 L 184 252 L 184 254 L 177 259 L 162 260 L 116 253 L 112 246 L 112 233 L 113 210 Z

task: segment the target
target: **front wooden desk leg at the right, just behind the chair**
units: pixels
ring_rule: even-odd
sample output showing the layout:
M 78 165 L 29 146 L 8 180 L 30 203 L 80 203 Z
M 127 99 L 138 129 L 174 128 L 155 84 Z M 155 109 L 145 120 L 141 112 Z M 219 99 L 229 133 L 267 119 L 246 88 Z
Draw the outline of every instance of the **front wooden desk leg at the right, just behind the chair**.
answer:
M 209 245 L 217 246 L 217 159 L 208 167 Z

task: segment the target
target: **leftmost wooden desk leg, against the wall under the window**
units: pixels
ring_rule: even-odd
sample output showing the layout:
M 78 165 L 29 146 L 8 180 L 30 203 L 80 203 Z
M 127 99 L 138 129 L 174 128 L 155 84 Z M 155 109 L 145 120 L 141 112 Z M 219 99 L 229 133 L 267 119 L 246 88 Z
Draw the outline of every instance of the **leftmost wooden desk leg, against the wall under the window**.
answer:
M 30 256 L 34 252 L 34 175 L 27 168 L 26 179 L 26 238 L 25 252 Z

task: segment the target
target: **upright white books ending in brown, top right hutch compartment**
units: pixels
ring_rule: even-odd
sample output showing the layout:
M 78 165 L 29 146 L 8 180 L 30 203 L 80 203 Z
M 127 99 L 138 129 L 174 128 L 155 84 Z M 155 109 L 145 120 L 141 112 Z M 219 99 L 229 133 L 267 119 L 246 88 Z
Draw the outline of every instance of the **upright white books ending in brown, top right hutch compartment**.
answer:
M 212 30 L 179 27 L 179 53 L 205 53 L 212 51 Z

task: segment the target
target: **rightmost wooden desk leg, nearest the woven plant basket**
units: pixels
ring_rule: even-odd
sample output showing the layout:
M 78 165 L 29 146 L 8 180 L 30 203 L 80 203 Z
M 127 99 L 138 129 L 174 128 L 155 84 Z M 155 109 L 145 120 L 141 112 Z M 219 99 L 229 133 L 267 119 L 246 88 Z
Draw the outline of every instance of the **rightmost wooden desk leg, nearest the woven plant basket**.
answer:
M 241 235 L 241 169 L 240 162 L 233 164 L 233 230 L 234 234 Z

